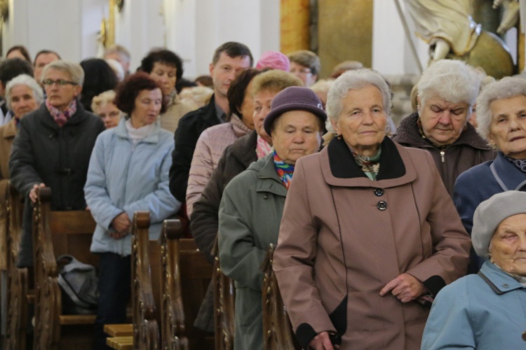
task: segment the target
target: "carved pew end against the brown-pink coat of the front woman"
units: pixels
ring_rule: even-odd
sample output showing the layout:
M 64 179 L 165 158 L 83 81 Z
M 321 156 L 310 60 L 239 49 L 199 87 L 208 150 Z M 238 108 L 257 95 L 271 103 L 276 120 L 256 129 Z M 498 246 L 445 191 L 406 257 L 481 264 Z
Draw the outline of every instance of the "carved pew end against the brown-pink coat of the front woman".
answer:
M 267 252 L 267 259 L 262 265 L 263 277 L 263 349 L 301 349 L 292 325 L 283 305 L 283 299 L 279 293 L 278 281 L 272 271 L 272 256 L 274 255 L 274 244 L 271 244 Z

